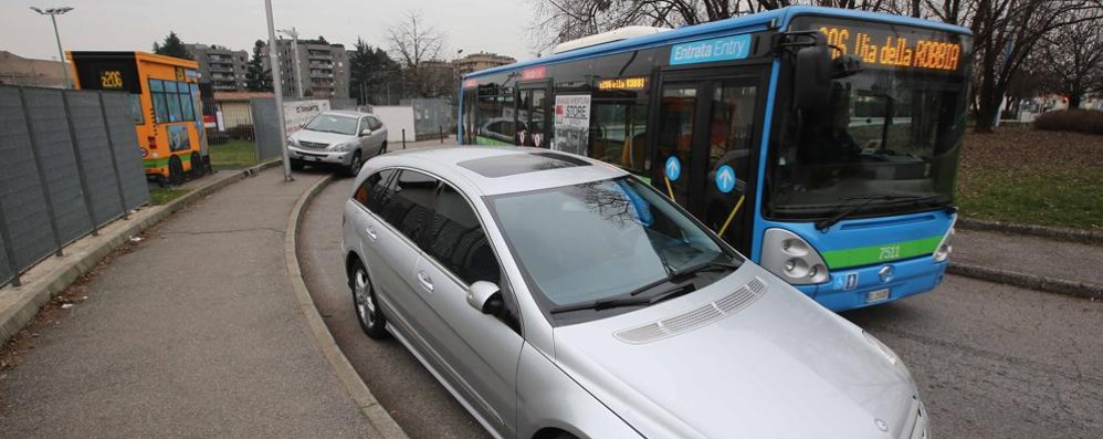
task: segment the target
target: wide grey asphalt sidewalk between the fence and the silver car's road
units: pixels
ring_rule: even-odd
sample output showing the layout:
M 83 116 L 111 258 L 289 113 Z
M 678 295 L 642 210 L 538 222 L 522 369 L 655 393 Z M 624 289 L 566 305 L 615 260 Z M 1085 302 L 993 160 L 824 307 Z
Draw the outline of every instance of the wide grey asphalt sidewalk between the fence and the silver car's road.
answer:
M 284 229 L 324 174 L 233 184 L 146 233 L 0 378 L 0 437 L 374 437 L 291 292 Z

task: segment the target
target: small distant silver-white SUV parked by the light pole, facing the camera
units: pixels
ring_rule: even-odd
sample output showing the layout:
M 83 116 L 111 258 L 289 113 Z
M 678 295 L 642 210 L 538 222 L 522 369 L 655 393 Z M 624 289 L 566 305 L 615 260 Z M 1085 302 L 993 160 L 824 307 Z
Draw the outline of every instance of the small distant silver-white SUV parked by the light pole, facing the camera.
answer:
M 378 117 L 359 112 L 325 112 L 287 137 L 291 167 L 337 165 L 349 176 L 364 160 L 387 151 L 387 127 Z

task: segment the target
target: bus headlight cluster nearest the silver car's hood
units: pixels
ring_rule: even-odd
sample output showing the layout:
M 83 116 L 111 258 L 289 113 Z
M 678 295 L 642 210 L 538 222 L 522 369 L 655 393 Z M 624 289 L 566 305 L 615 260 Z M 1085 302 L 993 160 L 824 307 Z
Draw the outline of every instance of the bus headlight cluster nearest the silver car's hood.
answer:
M 763 268 L 794 285 L 827 282 L 830 273 L 808 241 L 785 229 L 766 229 Z

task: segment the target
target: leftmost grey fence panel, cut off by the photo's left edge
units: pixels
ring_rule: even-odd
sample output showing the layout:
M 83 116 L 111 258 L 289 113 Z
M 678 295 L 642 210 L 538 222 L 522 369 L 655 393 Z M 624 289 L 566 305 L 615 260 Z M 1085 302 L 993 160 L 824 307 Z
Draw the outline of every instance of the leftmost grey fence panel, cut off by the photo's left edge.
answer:
M 6 220 L 0 227 L 8 228 L 9 244 L 14 250 L 18 266 L 32 264 L 53 252 L 55 240 L 45 195 L 34 166 L 19 90 L 13 87 L 0 88 L 0 205 Z M 4 257 L 6 272 L 10 271 L 7 265 Z M 12 274 L 8 273 L 8 276 Z

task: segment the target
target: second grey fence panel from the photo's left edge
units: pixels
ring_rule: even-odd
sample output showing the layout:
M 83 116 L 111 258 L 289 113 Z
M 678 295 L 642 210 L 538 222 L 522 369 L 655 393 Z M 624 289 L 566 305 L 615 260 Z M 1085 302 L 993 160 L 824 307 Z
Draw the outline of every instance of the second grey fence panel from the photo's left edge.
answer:
M 69 137 L 69 123 L 60 90 L 25 88 L 28 115 L 34 127 L 34 138 L 46 190 L 57 217 L 61 241 L 69 242 L 92 231 L 92 219 L 84 205 L 84 191 L 76 173 L 76 157 Z

